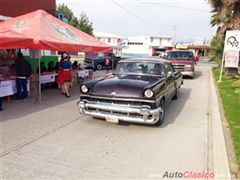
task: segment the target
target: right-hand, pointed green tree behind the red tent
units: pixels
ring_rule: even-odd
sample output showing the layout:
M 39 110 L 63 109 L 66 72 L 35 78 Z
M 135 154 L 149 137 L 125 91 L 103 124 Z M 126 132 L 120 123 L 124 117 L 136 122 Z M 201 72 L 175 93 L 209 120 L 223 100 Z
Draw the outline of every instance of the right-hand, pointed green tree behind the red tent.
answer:
M 80 15 L 80 19 L 78 21 L 78 28 L 90 35 L 93 35 L 93 26 L 92 22 L 89 21 L 88 17 L 84 12 Z

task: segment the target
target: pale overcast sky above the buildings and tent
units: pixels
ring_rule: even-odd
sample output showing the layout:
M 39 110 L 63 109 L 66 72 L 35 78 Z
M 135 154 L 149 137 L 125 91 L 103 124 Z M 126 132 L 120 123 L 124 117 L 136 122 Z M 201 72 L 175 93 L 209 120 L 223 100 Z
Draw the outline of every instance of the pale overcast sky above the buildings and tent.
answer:
M 177 42 L 211 39 L 208 0 L 56 0 L 79 17 L 85 12 L 95 31 L 122 36 L 171 36 Z

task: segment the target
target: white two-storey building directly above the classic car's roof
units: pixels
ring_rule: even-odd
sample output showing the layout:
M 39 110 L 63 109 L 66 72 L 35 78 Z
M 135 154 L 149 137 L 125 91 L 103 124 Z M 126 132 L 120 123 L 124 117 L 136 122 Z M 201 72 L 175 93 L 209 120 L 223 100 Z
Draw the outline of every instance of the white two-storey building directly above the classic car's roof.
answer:
M 124 56 L 155 56 L 173 48 L 173 38 L 167 36 L 128 37 L 123 44 Z

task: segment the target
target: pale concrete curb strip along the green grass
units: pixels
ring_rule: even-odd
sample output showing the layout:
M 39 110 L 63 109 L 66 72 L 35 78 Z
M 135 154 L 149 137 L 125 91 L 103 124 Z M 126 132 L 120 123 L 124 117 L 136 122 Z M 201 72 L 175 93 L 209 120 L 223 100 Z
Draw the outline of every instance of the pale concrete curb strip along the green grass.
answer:
M 212 127 L 212 158 L 214 179 L 231 180 L 228 155 L 223 133 L 222 120 L 220 116 L 219 102 L 216 87 L 213 79 L 212 69 L 210 70 L 210 123 Z

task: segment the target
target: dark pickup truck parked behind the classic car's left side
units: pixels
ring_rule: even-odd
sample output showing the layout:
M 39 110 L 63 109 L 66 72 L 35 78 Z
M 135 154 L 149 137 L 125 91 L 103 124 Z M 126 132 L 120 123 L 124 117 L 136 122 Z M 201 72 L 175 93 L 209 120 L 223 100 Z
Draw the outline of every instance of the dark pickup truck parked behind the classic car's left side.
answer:
M 85 69 L 93 69 L 93 70 L 102 70 L 105 67 L 106 56 L 109 56 L 109 68 L 112 68 L 112 62 L 114 62 L 113 66 L 116 67 L 118 61 L 120 61 L 120 57 L 116 57 L 113 53 L 99 53 L 95 57 L 88 57 L 84 59 L 84 68 Z

